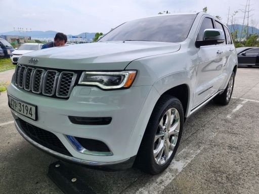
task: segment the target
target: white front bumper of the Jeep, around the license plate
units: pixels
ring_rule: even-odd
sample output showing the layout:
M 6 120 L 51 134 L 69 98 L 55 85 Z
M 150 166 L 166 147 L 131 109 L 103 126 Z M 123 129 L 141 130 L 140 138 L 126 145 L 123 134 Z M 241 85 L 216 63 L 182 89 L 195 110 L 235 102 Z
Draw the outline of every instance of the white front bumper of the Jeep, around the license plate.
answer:
M 154 92 L 156 90 L 152 86 L 135 86 L 113 91 L 104 91 L 96 87 L 75 86 L 70 98 L 63 100 L 27 92 L 17 88 L 13 83 L 8 87 L 8 94 L 37 106 L 38 119 L 36 121 L 11 110 L 17 130 L 35 147 L 63 160 L 115 170 L 129 168 L 133 164 L 145 131 L 145 123 L 148 122 L 150 116 L 145 113 L 143 107 L 147 106 L 144 104 L 147 103 L 148 96 L 153 95 Z M 156 95 L 158 96 L 158 94 Z M 153 109 L 150 103 L 148 106 Z M 69 116 L 111 117 L 112 120 L 105 125 L 82 125 L 72 123 Z M 28 128 L 32 126 L 32 131 L 39 128 L 52 133 L 58 138 L 67 153 L 52 149 L 42 141 L 31 138 L 24 131 L 21 121 Z M 140 124 L 137 123 L 142 122 L 145 127 L 139 128 Z M 78 149 L 77 143 L 73 142 L 75 138 L 101 141 L 107 146 L 109 152 L 94 150 L 88 152 L 88 149 Z

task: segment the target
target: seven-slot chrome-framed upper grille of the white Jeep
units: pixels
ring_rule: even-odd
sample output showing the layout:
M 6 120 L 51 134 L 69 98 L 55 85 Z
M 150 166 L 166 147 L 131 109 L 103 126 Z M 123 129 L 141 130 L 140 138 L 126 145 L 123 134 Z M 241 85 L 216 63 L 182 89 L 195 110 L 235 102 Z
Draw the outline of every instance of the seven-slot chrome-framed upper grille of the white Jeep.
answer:
M 75 72 L 46 70 L 20 64 L 15 69 L 15 84 L 18 87 L 54 98 L 68 98 L 76 77 Z

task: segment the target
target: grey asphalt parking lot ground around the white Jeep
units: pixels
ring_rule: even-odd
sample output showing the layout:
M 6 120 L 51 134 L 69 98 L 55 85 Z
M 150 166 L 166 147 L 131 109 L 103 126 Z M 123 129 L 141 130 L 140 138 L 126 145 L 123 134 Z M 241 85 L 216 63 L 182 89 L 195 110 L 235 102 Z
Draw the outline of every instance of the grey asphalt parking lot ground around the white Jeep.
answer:
M 100 194 L 259 193 L 258 77 L 259 68 L 238 68 L 230 104 L 210 102 L 190 117 L 175 159 L 160 175 L 67 166 Z M 47 176 L 57 159 L 17 132 L 6 92 L 0 115 L 0 193 L 63 193 Z

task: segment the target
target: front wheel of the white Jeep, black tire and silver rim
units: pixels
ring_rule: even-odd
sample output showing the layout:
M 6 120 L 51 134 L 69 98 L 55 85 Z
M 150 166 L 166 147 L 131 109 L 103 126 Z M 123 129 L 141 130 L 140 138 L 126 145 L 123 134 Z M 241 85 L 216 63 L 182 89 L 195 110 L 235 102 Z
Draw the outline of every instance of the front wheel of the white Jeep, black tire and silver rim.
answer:
M 153 175 L 165 170 L 177 152 L 183 124 L 181 102 L 174 96 L 163 96 L 151 114 L 135 166 Z

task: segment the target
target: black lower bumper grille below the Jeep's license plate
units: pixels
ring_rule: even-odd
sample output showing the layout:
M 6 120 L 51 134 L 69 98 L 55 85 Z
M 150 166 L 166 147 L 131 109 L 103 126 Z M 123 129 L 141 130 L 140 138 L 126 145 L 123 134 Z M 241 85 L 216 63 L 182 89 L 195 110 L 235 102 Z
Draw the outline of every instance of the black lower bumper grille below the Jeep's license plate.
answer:
M 66 156 L 72 156 L 54 133 L 31 125 L 22 119 L 18 119 L 17 121 L 20 123 L 22 131 L 33 141 L 36 141 L 41 146 L 44 146 L 55 152 L 64 154 Z

